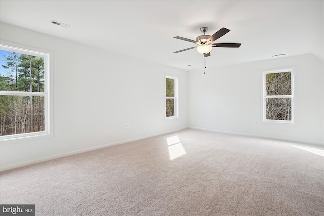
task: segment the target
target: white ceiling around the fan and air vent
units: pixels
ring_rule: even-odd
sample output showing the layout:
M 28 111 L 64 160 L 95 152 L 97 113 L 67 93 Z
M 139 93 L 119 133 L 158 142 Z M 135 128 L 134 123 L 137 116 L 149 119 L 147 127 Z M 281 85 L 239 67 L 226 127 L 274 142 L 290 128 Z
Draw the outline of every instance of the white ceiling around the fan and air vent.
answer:
M 209 35 L 222 27 L 231 30 L 216 42 L 242 43 L 240 48 L 213 48 L 207 67 L 284 53 L 323 59 L 323 11 L 322 0 L 0 0 L 4 23 L 187 71 L 203 68 L 204 57 L 195 49 L 173 53 L 194 46 L 173 37 L 195 40 L 203 26 Z M 51 19 L 71 27 L 51 24 Z

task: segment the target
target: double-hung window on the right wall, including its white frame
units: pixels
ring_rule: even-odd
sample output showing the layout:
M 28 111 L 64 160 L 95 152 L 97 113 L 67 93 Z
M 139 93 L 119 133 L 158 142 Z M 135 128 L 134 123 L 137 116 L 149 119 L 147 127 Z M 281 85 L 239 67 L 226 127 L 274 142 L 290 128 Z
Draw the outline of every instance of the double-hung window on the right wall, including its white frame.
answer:
M 263 73 L 263 121 L 294 123 L 293 69 Z

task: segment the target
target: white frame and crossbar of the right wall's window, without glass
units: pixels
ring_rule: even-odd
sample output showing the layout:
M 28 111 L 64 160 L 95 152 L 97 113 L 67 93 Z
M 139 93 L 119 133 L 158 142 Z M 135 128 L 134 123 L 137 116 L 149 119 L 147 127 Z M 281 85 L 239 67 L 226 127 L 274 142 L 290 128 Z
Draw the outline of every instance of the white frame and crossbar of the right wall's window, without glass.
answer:
M 280 68 L 276 70 L 266 70 L 263 71 L 263 76 L 262 76 L 262 87 L 263 87 L 263 101 L 262 101 L 262 119 L 264 123 L 284 123 L 284 124 L 294 124 L 294 119 L 295 119 L 295 111 L 294 111 L 294 67 L 288 67 L 288 68 Z M 291 95 L 266 95 L 266 75 L 269 73 L 284 73 L 284 72 L 290 72 L 291 73 Z M 291 105 L 292 105 L 292 110 L 291 110 L 291 120 L 272 120 L 272 119 L 266 119 L 266 99 L 267 98 L 291 98 Z

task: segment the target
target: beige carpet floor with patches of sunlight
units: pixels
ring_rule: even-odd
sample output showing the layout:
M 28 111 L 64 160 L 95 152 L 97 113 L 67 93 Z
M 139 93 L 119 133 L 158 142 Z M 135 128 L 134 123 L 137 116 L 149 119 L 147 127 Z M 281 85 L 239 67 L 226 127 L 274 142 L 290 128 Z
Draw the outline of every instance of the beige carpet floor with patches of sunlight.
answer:
M 185 129 L 0 173 L 36 215 L 324 215 L 324 157 Z

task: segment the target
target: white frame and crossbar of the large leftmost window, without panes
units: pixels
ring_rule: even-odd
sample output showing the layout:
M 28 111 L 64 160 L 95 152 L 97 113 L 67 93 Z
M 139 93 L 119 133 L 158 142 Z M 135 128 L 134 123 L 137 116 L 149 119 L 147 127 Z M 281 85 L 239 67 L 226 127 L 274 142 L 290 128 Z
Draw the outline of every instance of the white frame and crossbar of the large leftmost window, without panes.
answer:
M 21 91 L 0 91 L 0 95 L 9 96 L 43 96 L 44 97 L 44 131 L 29 132 L 22 134 L 3 135 L 0 136 L 1 143 L 5 141 L 14 142 L 25 138 L 36 137 L 53 137 L 53 78 L 51 78 L 53 71 L 53 52 L 40 50 L 37 48 L 30 48 L 22 45 L 12 44 L 10 42 L 0 41 L 0 49 L 10 52 L 22 53 L 32 56 L 44 57 L 44 92 L 21 92 Z M 7 142 L 6 142 L 7 143 Z

